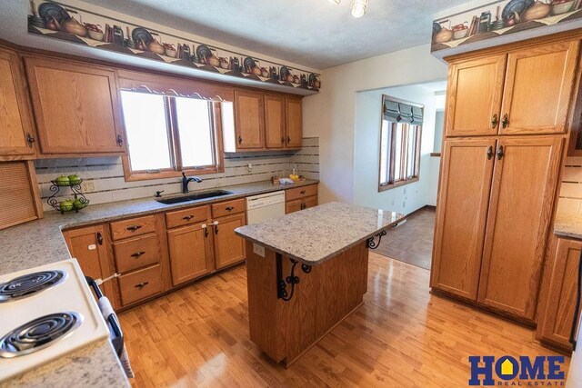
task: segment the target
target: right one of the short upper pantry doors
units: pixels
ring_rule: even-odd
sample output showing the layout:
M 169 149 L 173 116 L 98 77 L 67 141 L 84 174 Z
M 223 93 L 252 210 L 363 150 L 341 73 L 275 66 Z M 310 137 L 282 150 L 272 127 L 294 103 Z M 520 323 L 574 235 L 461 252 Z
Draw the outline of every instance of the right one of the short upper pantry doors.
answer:
M 578 41 L 544 45 L 507 56 L 500 134 L 566 131 L 578 45 Z

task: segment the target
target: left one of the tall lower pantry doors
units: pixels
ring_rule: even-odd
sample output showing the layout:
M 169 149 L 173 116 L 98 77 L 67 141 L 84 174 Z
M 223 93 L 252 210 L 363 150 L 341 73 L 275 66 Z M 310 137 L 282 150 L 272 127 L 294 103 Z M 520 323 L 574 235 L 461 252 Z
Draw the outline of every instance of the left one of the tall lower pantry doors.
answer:
M 494 139 L 445 142 L 431 286 L 476 300 Z

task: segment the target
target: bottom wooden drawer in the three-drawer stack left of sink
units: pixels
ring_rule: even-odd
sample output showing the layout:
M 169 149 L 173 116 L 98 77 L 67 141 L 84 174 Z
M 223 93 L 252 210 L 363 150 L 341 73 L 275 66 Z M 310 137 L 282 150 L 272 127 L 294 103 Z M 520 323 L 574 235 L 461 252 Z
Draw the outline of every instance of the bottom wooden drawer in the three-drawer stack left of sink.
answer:
M 119 276 L 121 303 L 128 304 L 162 292 L 162 268 L 160 264 L 130 274 Z

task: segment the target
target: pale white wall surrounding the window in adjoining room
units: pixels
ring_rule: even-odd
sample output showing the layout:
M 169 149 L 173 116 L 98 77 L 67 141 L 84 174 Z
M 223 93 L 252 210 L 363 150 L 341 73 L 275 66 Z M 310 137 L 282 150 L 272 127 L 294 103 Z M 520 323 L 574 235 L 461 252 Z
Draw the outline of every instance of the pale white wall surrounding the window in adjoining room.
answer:
M 420 150 L 420 179 L 412 184 L 378 192 L 379 134 L 382 95 L 424 104 Z M 436 101 L 434 91 L 422 85 L 408 85 L 356 94 L 354 139 L 354 203 L 409 214 L 426 204 L 436 204 L 437 187 L 431 184 L 435 138 Z M 437 161 L 438 162 L 438 161 Z M 437 170 L 438 174 L 438 170 Z

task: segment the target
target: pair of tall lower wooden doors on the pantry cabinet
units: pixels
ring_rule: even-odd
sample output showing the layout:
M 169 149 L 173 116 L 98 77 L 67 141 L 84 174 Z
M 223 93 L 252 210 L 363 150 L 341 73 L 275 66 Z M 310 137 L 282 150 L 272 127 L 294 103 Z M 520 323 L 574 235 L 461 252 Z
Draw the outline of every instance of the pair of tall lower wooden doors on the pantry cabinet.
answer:
M 563 136 L 446 141 L 431 286 L 535 323 Z

